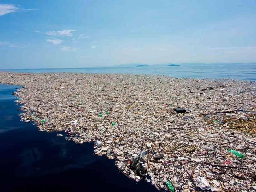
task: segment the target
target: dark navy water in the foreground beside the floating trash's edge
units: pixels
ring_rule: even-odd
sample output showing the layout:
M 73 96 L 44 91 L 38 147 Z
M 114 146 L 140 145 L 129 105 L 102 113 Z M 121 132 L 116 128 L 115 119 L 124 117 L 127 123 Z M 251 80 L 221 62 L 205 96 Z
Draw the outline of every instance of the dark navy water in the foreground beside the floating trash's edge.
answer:
M 20 121 L 15 87 L 0 84 L 0 191 L 157 191 L 124 176 L 114 160 L 93 155 L 92 143 L 77 145 L 63 132 L 39 132 Z

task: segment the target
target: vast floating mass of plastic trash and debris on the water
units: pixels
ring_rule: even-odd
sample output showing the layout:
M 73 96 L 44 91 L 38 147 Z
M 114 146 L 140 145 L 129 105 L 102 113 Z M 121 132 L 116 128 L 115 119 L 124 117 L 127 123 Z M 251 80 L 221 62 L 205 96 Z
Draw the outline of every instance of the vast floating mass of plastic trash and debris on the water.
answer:
M 95 142 L 129 178 L 170 191 L 256 190 L 255 82 L 0 72 L 0 83 L 22 86 L 21 120 Z

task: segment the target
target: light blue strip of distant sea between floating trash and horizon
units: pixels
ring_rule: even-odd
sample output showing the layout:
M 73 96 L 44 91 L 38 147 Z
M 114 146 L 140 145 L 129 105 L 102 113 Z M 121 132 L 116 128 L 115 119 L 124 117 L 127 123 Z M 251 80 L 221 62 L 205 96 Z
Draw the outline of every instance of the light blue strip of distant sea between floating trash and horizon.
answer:
M 256 80 L 256 64 L 203 64 L 186 63 L 180 66 L 153 65 L 150 67 L 103 67 L 103 68 L 50 68 L 50 69 L 11 69 L 19 72 L 77 72 L 77 73 L 132 73 L 159 74 L 174 77 L 191 78 L 231 78 L 238 80 Z

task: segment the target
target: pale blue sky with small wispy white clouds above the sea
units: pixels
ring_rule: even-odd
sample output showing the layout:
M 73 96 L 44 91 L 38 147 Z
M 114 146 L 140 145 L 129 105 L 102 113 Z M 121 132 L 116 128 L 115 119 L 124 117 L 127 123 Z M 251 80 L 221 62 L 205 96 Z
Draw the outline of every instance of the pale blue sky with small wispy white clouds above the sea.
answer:
M 0 0 L 0 68 L 254 63 L 256 0 Z

